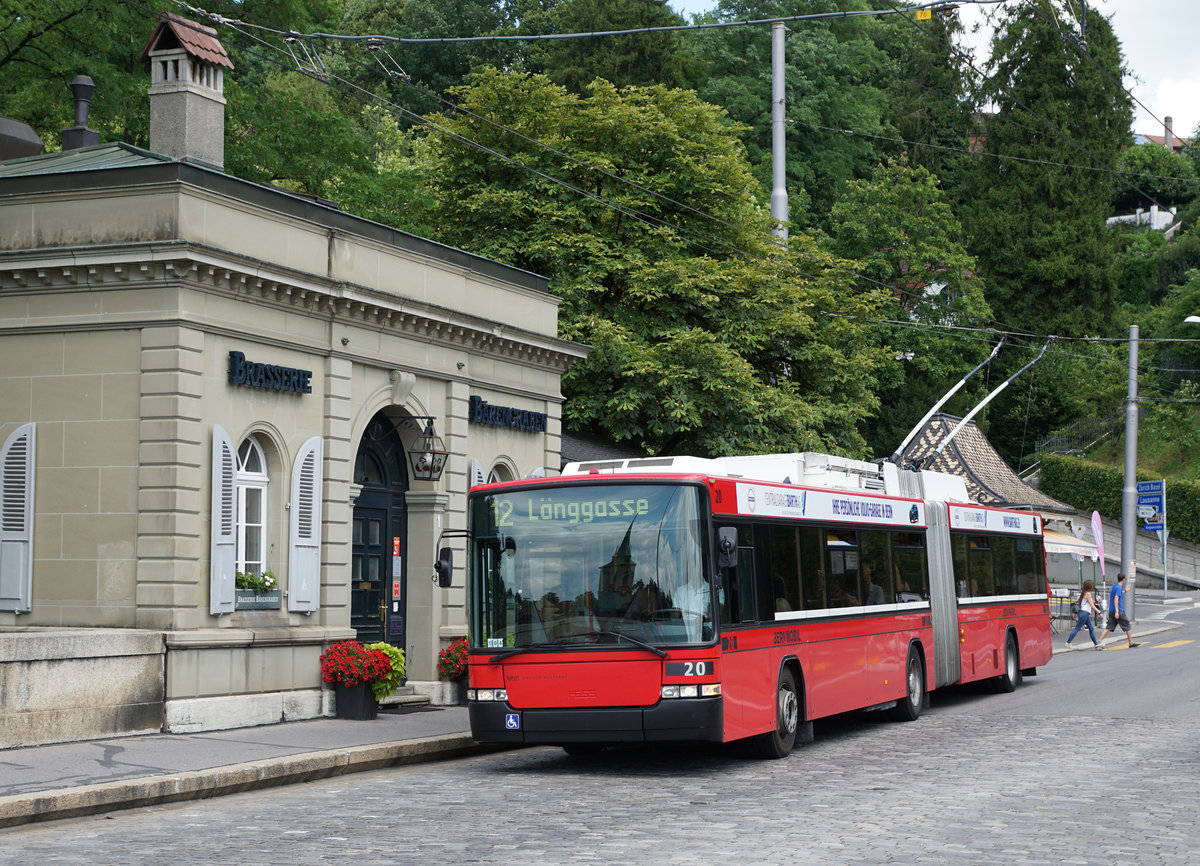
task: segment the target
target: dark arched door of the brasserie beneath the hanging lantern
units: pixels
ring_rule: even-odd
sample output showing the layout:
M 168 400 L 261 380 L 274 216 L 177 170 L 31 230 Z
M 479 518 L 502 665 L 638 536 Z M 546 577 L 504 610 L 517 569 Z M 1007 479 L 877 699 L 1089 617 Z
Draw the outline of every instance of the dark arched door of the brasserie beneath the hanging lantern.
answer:
M 378 413 L 362 433 L 354 458 L 350 547 L 350 627 L 362 643 L 386 641 L 403 648 L 407 627 L 406 581 L 408 467 L 396 425 Z

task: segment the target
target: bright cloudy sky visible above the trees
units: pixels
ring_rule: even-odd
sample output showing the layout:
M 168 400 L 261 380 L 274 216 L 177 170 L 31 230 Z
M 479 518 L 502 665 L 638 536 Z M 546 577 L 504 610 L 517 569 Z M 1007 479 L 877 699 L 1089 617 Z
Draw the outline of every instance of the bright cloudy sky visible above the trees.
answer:
M 689 16 L 716 6 L 715 0 L 667 0 Z M 959 16 L 968 28 L 983 18 L 984 8 L 964 2 Z M 1163 119 L 1174 119 L 1175 133 L 1190 136 L 1200 124 L 1200 0 L 1087 0 L 1087 14 L 1099 11 L 1112 28 L 1133 77 L 1128 89 L 1134 103 L 1134 132 L 1163 134 Z M 803 26 L 803 25 L 802 25 Z M 978 37 L 986 44 L 986 37 Z M 983 68 L 983 52 L 977 52 Z M 1147 110 L 1148 109 L 1148 110 Z

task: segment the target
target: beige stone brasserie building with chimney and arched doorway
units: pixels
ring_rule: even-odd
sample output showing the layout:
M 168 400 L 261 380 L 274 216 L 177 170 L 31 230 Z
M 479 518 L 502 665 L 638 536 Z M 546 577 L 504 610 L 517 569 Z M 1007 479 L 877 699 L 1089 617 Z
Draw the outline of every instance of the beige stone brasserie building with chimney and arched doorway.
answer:
M 542 277 L 224 174 L 214 31 L 144 59 L 151 151 L 0 162 L 0 746 L 328 714 L 349 637 L 438 691 L 439 535 L 558 470 L 584 354 Z

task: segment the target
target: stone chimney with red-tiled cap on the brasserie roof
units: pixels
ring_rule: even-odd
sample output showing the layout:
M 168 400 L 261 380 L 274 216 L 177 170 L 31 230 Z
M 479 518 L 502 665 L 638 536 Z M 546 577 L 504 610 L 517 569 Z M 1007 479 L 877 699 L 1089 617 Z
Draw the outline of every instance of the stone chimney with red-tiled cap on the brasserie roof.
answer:
M 217 31 L 160 16 L 142 60 L 150 65 L 150 150 L 224 168 L 224 71 L 233 64 Z

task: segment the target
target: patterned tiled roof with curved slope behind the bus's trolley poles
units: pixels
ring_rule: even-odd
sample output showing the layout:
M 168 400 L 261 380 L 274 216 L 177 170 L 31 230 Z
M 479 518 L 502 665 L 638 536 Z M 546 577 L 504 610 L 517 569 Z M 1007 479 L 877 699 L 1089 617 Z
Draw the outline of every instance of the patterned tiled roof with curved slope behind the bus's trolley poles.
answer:
M 959 421 L 961 419 L 953 415 L 935 415 L 910 443 L 902 455 L 901 463 L 908 463 L 916 458 L 922 458 L 922 461 L 930 458 Z M 967 423 L 950 440 L 942 453 L 932 458 L 932 462 L 923 462 L 922 469 L 962 476 L 967 482 L 967 495 L 980 505 L 1030 507 L 1063 515 L 1075 513 L 1075 509 L 1072 506 L 1060 503 L 1021 481 L 1016 473 L 996 453 L 996 449 L 976 427 L 974 421 Z

